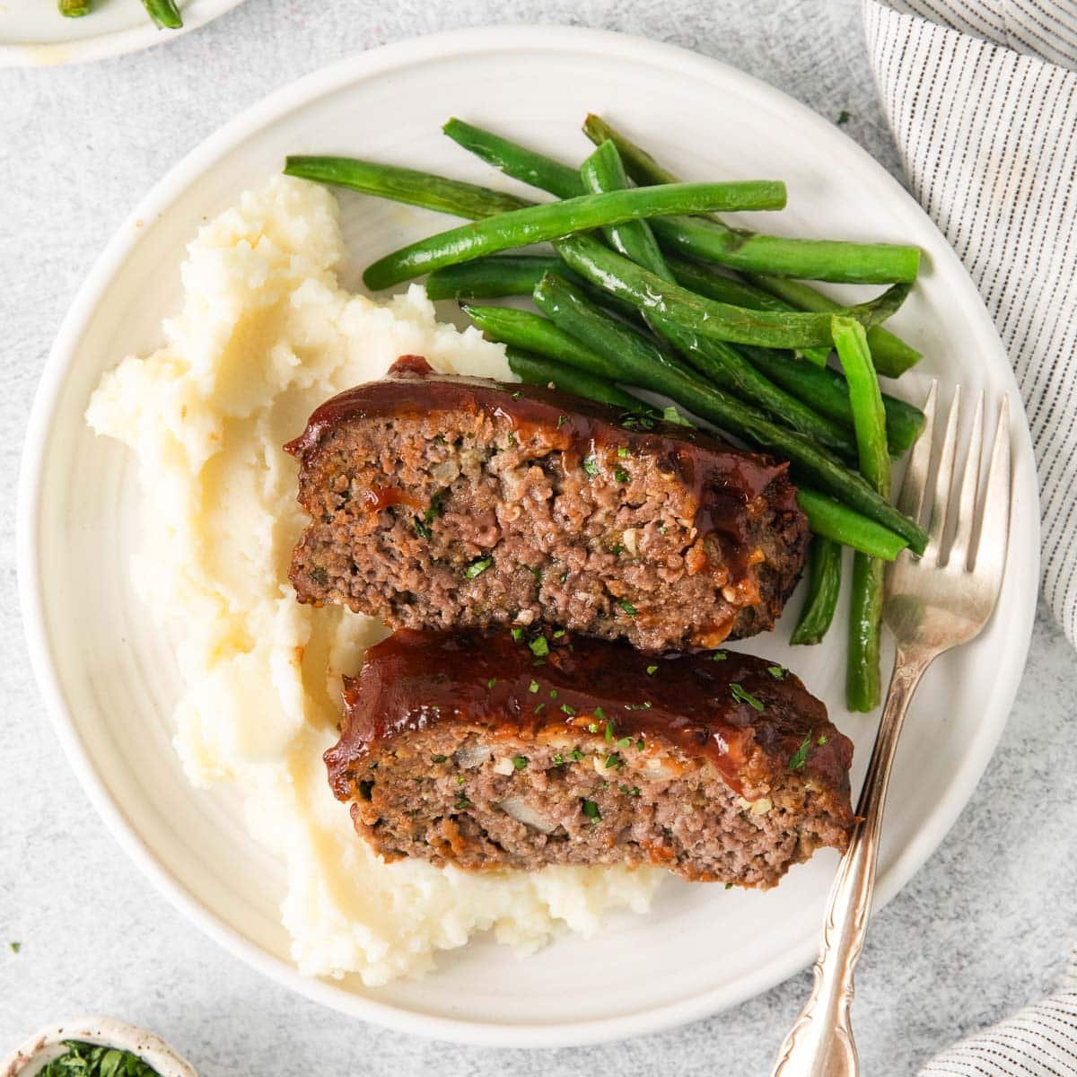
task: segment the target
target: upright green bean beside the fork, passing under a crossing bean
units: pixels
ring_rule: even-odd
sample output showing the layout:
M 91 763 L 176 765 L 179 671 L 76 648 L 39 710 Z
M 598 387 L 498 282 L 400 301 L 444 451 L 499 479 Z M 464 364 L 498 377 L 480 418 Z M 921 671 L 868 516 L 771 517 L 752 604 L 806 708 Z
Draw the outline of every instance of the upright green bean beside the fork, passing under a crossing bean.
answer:
M 835 314 L 834 342 L 849 381 L 861 474 L 886 498 L 890 495 L 886 415 L 864 326 Z M 845 673 L 845 701 L 851 711 L 875 710 L 882 699 L 882 562 L 864 554 L 854 555 Z

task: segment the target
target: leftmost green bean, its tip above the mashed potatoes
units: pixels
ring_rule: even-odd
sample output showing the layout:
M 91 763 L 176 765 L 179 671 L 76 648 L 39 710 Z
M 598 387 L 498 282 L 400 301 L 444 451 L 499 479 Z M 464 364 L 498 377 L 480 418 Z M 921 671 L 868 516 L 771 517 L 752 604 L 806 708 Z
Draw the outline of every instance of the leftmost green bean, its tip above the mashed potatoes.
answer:
M 507 213 L 533 206 L 523 198 L 491 191 L 474 183 L 462 183 L 432 172 L 419 172 L 396 165 L 381 165 L 353 157 L 288 157 L 284 174 L 302 180 L 348 187 L 364 195 L 377 195 L 409 206 L 452 213 L 468 220 Z

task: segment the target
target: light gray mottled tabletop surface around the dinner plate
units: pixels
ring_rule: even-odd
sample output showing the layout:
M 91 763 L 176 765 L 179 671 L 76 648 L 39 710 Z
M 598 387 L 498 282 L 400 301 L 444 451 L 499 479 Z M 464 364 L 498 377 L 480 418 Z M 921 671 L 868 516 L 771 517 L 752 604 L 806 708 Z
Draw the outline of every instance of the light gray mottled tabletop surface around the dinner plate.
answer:
M 270 89 L 350 52 L 534 22 L 641 33 L 728 60 L 825 116 L 848 110 L 849 134 L 897 171 L 852 0 L 248 0 L 166 48 L 92 68 L 0 72 L 2 504 L 13 503 L 25 417 L 68 303 L 131 205 L 187 150 Z M 484 1051 L 340 1018 L 218 950 L 128 864 L 58 758 L 24 653 L 10 509 L 0 544 L 0 1049 L 37 1024 L 103 1010 L 156 1029 L 204 1077 L 767 1072 L 808 974 L 660 1036 Z M 908 1074 L 1058 977 L 1077 938 L 1075 714 L 1073 653 L 1040 617 L 976 796 L 870 933 L 855 1011 L 865 1073 Z M 9 941 L 22 943 L 18 954 Z

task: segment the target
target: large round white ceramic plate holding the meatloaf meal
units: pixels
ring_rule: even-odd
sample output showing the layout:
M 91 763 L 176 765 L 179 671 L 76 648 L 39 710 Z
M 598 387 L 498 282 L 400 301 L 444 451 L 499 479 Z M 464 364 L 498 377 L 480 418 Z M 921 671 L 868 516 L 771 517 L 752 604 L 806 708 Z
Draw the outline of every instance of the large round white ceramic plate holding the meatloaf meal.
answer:
M 34 406 L 20 491 L 20 581 L 42 691 L 94 802 L 128 853 L 208 934 L 280 983 L 395 1029 L 490 1045 L 567 1045 L 635 1035 L 747 998 L 808 964 L 836 856 L 794 868 L 766 894 L 671 880 L 647 917 L 520 959 L 492 942 L 444 954 L 422 981 L 379 990 L 298 976 L 277 917 L 280 870 L 246 835 L 235 794 L 198 792 L 173 755 L 178 673 L 169 641 L 135 600 L 128 556 L 135 462 L 98 439 L 83 409 L 100 374 L 159 341 L 184 243 L 208 215 L 261 184 L 286 153 L 345 153 L 502 181 L 439 134 L 456 114 L 572 160 L 588 110 L 606 113 L 690 178 L 780 177 L 789 209 L 768 227 L 911 241 L 924 274 L 895 327 L 925 353 L 900 391 L 933 375 L 1009 394 L 1006 356 L 953 252 L 912 199 L 844 135 L 731 68 L 635 38 L 574 29 L 467 30 L 376 50 L 252 109 L 177 167 L 101 256 L 53 349 Z M 507 183 L 507 181 L 505 181 Z M 522 190 L 522 188 L 521 188 Z M 444 218 L 346 195 L 355 269 L 446 226 Z M 757 219 L 758 220 L 758 219 Z M 358 271 L 353 271 L 358 277 Z M 1011 556 L 994 620 L 940 660 L 920 689 L 891 787 L 881 905 L 908 881 L 968 800 L 1024 663 L 1037 579 L 1032 448 L 1018 419 Z M 800 600 L 792 603 L 795 616 Z M 840 615 L 839 615 L 840 616 Z M 875 717 L 842 707 L 841 629 L 789 651 L 787 617 L 749 649 L 786 662 L 856 743 L 858 785 Z M 344 810 L 344 809 L 341 809 Z

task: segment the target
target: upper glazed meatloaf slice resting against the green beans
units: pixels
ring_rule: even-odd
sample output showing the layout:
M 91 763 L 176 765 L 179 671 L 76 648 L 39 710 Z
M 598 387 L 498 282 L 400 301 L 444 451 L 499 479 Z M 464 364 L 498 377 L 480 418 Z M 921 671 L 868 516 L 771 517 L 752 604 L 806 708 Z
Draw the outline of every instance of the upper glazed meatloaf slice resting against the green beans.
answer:
M 390 373 L 288 446 L 311 518 L 300 602 L 391 628 L 546 621 L 654 651 L 773 626 L 808 543 L 786 464 L 417 356 Z

